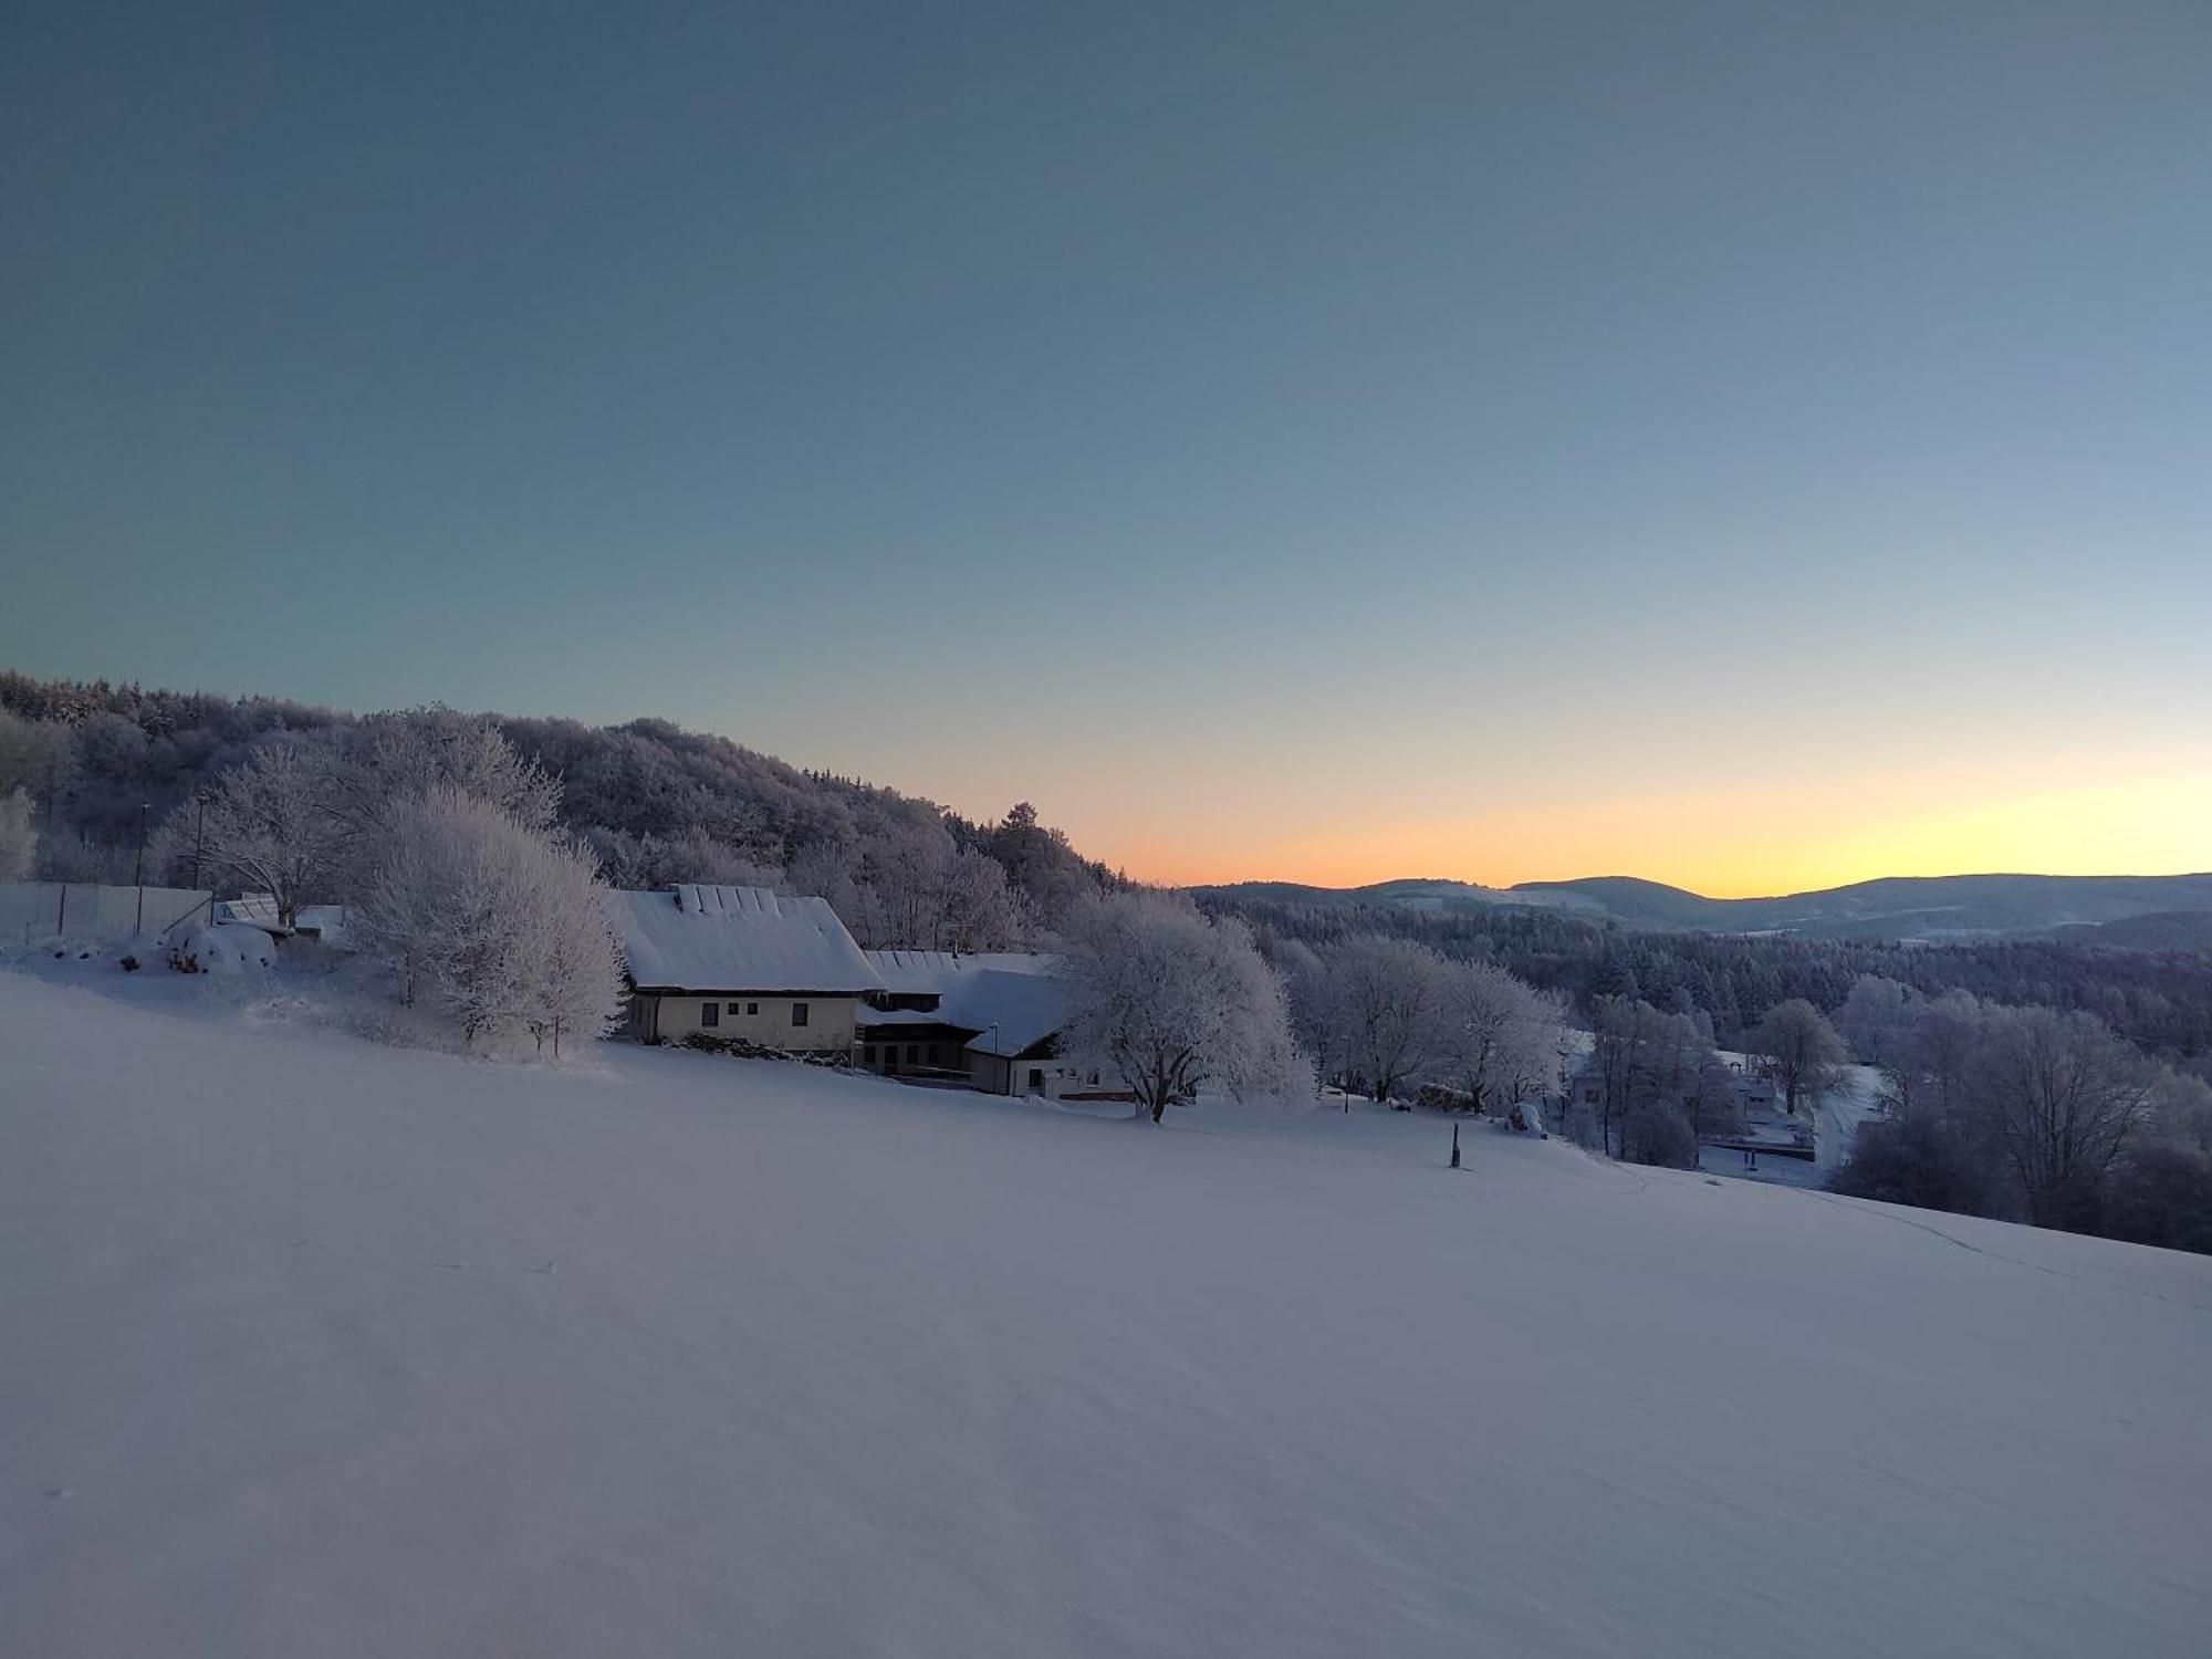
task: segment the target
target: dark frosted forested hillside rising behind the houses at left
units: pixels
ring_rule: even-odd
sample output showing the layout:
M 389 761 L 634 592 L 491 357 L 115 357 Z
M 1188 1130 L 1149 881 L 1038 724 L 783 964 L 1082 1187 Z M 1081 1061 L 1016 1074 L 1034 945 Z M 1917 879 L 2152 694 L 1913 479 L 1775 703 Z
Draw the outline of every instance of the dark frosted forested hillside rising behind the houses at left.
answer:
M 462 719 L 476 717 L 349 714 L 274 697 L 0 672 L 0 794 L 22 787 L 31 796 L 42 876 L 128 880 L 144 805 L 148 878 L 181 878 L 192 794 L 254 745 L 341 745 L 378 721 Z M 562 821 L 593 843 L 622 887 L 790 885 L 830 896 L 869 945 L 995 949 L 1048 927 L 1077 894 L 1121 885 L 1026 803 L 973 823 L 659 719 L 487 719 L 560 781 Z

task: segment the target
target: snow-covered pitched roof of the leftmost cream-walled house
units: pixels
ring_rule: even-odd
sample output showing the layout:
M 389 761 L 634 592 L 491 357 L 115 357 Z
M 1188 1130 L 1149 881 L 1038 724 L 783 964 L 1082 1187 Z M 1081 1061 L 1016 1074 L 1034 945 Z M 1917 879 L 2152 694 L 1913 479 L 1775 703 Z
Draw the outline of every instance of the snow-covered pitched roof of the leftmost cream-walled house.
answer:
M 630 982 L 641 991 L 883 989 L 827 898 L 686 883 L 613 900 Z

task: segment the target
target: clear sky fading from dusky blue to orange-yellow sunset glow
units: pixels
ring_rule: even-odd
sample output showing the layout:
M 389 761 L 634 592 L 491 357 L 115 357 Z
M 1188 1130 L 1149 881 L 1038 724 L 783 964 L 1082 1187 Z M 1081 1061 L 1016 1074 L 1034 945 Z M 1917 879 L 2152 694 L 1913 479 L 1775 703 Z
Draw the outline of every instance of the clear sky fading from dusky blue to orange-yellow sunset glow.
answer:
M 0 666 L 1161 880 L 2212 869 L 2203 0 L 0 29 Z

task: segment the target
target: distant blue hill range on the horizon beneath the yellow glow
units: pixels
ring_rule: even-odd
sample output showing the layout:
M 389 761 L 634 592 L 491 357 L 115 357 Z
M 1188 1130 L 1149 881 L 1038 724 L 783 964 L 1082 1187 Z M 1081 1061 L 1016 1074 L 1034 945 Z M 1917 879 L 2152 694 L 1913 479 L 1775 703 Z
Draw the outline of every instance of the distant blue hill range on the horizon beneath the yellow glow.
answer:
M 1705 898 L 1635 876 L 1515 887 L 1455 880 L 1387 880 L 1371 887 L 1241 883 L 1208 891 L 1312 905 L 1387 902 L 1449 914 L 1500 905 L 1566 909 L 1588 920 L 1652 931 L 1944 940 L 2081 929 L 2088 942 L 2212 949 L 2212 874 L 1885 876 L 1778 898 Z

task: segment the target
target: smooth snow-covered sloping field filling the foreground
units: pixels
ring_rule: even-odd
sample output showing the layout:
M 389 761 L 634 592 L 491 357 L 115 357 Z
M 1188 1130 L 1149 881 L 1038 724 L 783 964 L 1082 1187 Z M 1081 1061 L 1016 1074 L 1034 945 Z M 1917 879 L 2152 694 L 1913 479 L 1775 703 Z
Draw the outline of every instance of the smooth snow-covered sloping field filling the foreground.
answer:
M 2205 1259 L 175 984 L 0 973 L 15 1659 L 2212 1650 Z

